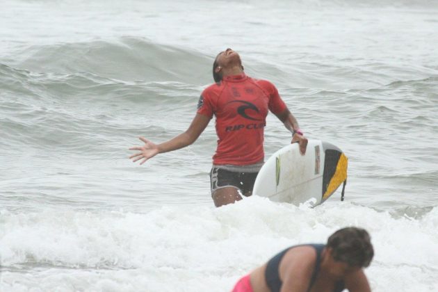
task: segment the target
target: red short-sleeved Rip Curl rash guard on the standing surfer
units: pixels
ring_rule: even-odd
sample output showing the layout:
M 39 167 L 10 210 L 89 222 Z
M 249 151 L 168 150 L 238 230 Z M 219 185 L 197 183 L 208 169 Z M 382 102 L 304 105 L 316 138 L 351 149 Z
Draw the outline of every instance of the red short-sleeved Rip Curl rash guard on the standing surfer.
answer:
M 225 76 L 220 83 L 206 88 L 197 108 L 197 113 L 207 117 L 216 115 L 219 139 L 213 164 L 250 165 L 264 159 L 263 130 L 268 109 L 282 113 L 286 104 L 272 83 L 243 73 Z

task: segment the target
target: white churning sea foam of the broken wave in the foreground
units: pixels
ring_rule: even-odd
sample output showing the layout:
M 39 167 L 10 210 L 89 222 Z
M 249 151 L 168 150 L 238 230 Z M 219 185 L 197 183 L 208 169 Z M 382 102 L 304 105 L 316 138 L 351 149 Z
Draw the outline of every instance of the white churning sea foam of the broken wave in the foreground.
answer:
M 389 284 L 433 291 L 437 215 L 435 208 L 413 220 L 346 202 L 310 209 L 261 197 L 148 213 L 2 211 L 1 284 L 5 291 L 227 291 L 289 245 L 324 243 L 340 227 L 359 226 L 375 247 L 366 270 L 373 291 Z

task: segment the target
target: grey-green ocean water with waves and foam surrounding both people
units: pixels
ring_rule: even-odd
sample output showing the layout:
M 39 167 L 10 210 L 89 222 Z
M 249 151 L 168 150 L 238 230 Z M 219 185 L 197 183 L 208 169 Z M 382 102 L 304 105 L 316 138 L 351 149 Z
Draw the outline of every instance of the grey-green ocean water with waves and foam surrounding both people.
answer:
M 363 3 L 362 3 L 363 2 Z M 438 291 L 437 1 L 0 3 L 0 291 L 230 291 L 286 246 L 370 232 L 373 291 Z M 219 51 L 349 158 L 314 209 L 209 194 L 214 122 L 185 131 Z M 273 115 L 266 157 L 289 143 Z

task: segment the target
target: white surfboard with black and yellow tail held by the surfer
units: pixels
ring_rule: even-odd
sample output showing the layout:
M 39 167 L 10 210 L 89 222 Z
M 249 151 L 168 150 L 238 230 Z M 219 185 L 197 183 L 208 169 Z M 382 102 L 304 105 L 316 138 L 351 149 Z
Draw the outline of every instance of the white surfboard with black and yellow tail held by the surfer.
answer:
M 296 205 L 314 198 L 311 204 L 316 206 L 342 183 L 345 187 L 347 165 L 345 154 L 330 143 L 309 140 L 305 155 L 300 154 L 298 143 L 289 144 L 263 164 L 252 194 Z

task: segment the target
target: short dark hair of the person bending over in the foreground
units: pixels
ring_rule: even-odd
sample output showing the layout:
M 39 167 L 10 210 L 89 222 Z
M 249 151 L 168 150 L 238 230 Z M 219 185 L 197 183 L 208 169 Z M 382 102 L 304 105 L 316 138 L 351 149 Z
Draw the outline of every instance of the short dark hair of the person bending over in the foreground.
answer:
M 357 227 L 334 232 L 327 240 L 327 248 L 332 248 L 335 261 L 348 263 L 348 266 L 366 268 L 374 256 L 370 235 L 365 229 Z

